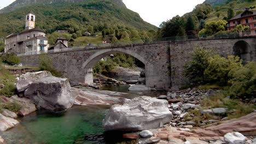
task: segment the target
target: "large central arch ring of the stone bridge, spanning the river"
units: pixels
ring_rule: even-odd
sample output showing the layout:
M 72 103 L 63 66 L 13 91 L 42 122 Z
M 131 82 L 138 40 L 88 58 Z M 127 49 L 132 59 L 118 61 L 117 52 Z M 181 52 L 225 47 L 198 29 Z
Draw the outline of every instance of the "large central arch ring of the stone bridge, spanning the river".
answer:
M 149 63 L 144 57 L 139 55 L 136 52 L 133 52 L 131 50 L 127 50 L 124 48 L 116 48 L 116 49 L 101 49 L 95 52 L 93 55 L 91 55 L 82 65 L 82 69 L 85 70 L 85 82 L 88 84 L 93 83 L 93 73 L 92 68 L 94 65 L 100 61 L 103 57 L 109 56 L 114 53 L 125 53 L 128 55 L 131 55 L 135 58 L 137 58 L 139 61 L 141 61 L 145 65 L 145 75 L 146 75 L 146 86 L 148 85 L 147 79 L 150 75 L 150 70 L 152 70 L 153 65 Z

